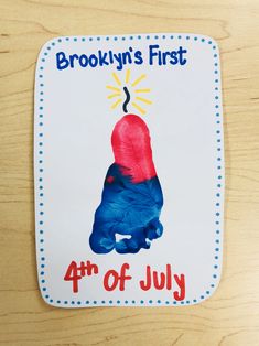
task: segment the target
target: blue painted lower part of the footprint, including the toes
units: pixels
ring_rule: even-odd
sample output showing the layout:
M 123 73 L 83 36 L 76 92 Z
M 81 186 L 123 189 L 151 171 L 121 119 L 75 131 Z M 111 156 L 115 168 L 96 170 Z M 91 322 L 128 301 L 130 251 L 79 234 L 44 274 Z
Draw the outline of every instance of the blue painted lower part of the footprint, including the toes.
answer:
M 110 180 L 112 177 L 112 181 Z M 158 176 L 132 183 L 114 163 L 108 169 L 101 203 L 95 213 L 90 247 L 96 253 L 136 253 L 162 236 L 159 220 L 163 195 Z M 131 236 L 116 242 L 116 234 Z

